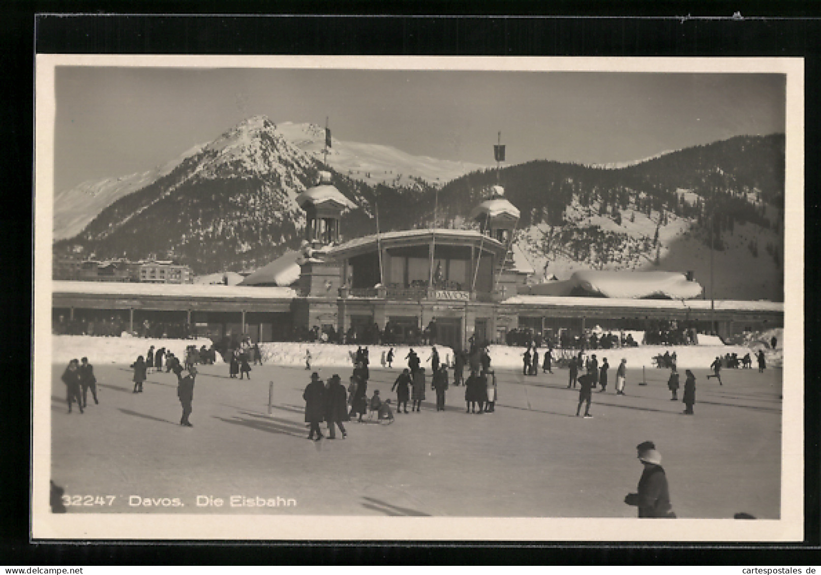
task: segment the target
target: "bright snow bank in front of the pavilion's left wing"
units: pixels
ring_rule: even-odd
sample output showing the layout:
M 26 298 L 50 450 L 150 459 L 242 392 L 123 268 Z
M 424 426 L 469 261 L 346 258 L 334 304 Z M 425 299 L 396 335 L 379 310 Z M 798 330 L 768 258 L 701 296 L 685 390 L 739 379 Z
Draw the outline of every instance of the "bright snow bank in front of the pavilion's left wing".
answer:
M 53 335 L 52 361 L 54 363 L 68 363 L 72 359 L 88 357 L 91 364 L 103 363 L 134 363 L 137 356 L 145 357 L 149 347 L 154 351 L 165 347 L 175 356 L 182 359 L 186 347 L 195 345 L 211 347 L 211 340 L 197 339 L 152 339 L 152 338 L 99 338 L 90 335 Z M 217 363 L 222 363 L 222 357 L 217 354 Z

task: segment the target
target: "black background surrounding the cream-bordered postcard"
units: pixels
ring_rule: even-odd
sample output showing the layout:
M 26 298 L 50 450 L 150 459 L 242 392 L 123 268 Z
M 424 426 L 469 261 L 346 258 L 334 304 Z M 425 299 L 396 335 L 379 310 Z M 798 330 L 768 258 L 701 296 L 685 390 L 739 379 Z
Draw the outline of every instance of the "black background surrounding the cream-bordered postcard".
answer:
M 549 11 L 548 11 L 549 10 Z M 85 14 L 66 16 L 67 12 Z M 121 15 L 101 15 L 117 11 Z M 245 16 L 193 16 L 214 11 Z M 280 16 L 255 16 L 276 11 Z M 415 11 L 416 15 L 412 15 Z M 479 11 L 482 14 L 479 14 Z M 730 18 L 741 11 L 743 19 Z M 367 13 L 383 16 L 351 16 Z M 57 14 L 62 13 L 62 16 Z M 310 14 L 326 16 L 310 16 Z M 122 16 L 135 14 L 139 16 Z M 154 14 L 154 16 L 152 16 Z M 418 16 L 432 14 L 437 16 Z M 475 14 L 475 16 L 467 16 Z M 541 14 L 541 16 L 538 16 Z M 287 16 L 285 16 L 287 15 Z M 518 15 L 518 16 L 517 16 Z M 640 15 L 640 16 L 639 16 Z M 691 15 L 691 16 L 690 16 Z M 814 2 L 6 2 L 0 7 L 3 191 L 0 246 L 5 337 L 0 563 L 579 563 L 794 565 L 819 563 L 819 380 L 805 378 L 805 544 L 153 545 L 30 541 L 30 326 L 34 53 L 397 54 L 509 56 L 805 57 L 805 273 L 818 277 L 821 10 Z M 28 248 L 28 249 L 26 249 Z M 805 292 L 805 355 L 814 354 L 818 306 Z M 29 332 L 30 335 L 30 332 Z M 28 345 L 26 345 L 28 344 Z M 28 348 L 28 349 L 27 349 Z M 14 471 L 16 470 L 16 471 Z M 454 534 L 458 537 L 458 534 Z M 804 563 L 802 565 L 802 563 Z

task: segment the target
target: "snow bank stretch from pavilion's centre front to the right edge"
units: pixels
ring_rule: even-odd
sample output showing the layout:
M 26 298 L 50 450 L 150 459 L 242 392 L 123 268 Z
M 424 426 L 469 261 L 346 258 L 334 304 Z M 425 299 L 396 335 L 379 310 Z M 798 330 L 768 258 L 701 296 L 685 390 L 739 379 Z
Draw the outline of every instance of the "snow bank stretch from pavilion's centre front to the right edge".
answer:
M 305 350 L 311 352 L 311 366 L 317 367 L 338 367 L 352 368 L 356 347 L 353 345 L 333 345 L 328 343 L 260 343 L 259 349 L 263 354 L 265 363 L 272 363 L 277 366 L 305 366 Z M 370 354 L 370 366 L 378 367 L 382 365 L 382 354 L 388 353 L 389 346 L 367 346 Z M 416 353 L 422 360 L 422 365 L 430 357 L 430 346 L 414 347 Z M 393 348 L 393 366 L 405 367 L 405 359 L 410 347 L 397 346 Z M 445 360 L 448 356 L 452 361 L 452 350 L 448 347 L 438 347 L 439 357 Z M 624 357 L 628 367 L 653 366 L 653 357 L 663 355 L 665 351 L 676 352 L 677 365 L 679 368 L 708 368 L 716 356 L 724 356 L 727 353 L 737 353 L 739 357 L 744 357 L 745 353 L 752 355 L 750 347 L 744 346 L 641 346 L 622 347 L 619 349 L 597 349 L 592 353 L 596 354 L 599 361 L 603 357 L 608 358 L 608 362 L 615 368 Z M 490 346 L 490 358 L 492 365 L 498 368 L 521 369 L 522 356 L 525 353 L 524 347 L 509 347 L 503 345 Z M 559 357 L 560 350 L 554 350 L 553 357 Z M 589 352 L 590 353 L 590 352 Z M 539 363 L 544 361 L 544 347 L 539 349 Z M 781 361 L 777 357 L 768 357 L 768 366 L 781 366 Z M 755 365 L 755 364 L 754 364 Z M 429 368 L 429 364 L 427 364 Z M 341 374 L 342 375 L 342 374 Z

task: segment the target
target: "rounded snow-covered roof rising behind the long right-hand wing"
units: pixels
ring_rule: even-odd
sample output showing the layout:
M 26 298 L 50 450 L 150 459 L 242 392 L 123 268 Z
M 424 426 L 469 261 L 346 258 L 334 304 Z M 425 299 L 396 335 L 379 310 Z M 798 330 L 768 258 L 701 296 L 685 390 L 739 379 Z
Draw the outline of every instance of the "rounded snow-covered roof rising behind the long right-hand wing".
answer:
M 578 289 L 592 295 L 640 299 L 647 297 L 669 297 L 671 299 L 691 299 L 699 297 L 701 284 L 687 281 L 684 274 L 676 272 L 635 272 L 635 271 L 577 271 L 570 279 L 558 282 L 538 283 L 531 286 L 535 296 L 569 296 Z

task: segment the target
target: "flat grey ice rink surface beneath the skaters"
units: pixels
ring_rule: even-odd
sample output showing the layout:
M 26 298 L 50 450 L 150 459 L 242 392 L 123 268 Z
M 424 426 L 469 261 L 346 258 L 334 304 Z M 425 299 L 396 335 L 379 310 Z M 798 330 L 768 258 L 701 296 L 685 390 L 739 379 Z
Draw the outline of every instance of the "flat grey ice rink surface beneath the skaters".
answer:
M 650 439 L 678 517 L 779 517 L 780 369 L 722 370 L 722 386 L 694 370 L 686 416 L 681 389 L 670 401 L 668 370 L 646 370 L 644 386 L 641 370 L 628 370 L 617 396 L 613 366 L 587 420 L 575 416 L 567 370 L 500 370 L 495 413 L 466 414 L 464 387 L 453 386 L 436 412 L 428 385 L 422 412 L 388 426 L 346 422 L 346 439 L 327 439 L 323 424 L 326 439 L 314 442 L 303 416 L 309 371 L 253 366 L 252 380 L 232 380 L 226 365 L 199 367 L 185 428 L 173 374 L 149 375 L 135 394 L 127 366 L 95 366 L 100 403 L 89 393 L 81 415 L 67 413 L 65 366 L 53 366 L 52 479 L 74 503 L 68 513 L 635 517 L 623 499 L 642 472 L 635 446 Z M 351 370 L 319 370 L 333 373 L 347 384 Z M 395 402 L 398 373 L 371 369 L 368 395 Z

